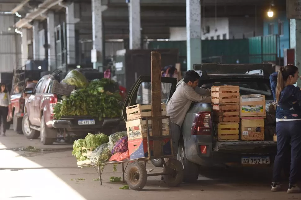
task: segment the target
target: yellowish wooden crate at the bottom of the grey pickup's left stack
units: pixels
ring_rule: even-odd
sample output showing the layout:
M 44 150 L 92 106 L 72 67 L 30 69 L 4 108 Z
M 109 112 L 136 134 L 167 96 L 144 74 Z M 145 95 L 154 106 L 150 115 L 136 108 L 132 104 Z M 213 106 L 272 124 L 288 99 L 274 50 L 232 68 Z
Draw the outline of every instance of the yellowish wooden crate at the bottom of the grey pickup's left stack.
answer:
M 218 123 L 218 141 L 238 141 L 239 126 L 238 123 Z

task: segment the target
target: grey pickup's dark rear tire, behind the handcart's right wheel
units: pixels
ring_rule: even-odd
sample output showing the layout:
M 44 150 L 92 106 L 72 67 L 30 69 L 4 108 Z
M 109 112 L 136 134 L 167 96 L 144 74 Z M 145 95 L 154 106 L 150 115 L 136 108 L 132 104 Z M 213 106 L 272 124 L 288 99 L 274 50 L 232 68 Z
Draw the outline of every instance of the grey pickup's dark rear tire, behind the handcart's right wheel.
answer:
M 186 183 L 195 183 L 199 177 L 199 166 L 195 163 L 190 162 L 187 160 L 185 155 L 185 149 L 183 142 L 179 143 L 177 160 L 182 163 L 183 166 L 183 181 Z

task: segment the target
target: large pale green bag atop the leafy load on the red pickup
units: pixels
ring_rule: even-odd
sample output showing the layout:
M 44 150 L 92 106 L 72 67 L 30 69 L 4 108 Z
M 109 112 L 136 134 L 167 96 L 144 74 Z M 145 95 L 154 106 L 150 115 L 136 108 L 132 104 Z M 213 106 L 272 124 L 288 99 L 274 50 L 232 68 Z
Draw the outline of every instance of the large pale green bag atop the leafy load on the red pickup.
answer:
M 79 70 L 71 70 L 61 82 L 75 85 L 77 88 L 86 88 L 88 86 L 86 77 Z

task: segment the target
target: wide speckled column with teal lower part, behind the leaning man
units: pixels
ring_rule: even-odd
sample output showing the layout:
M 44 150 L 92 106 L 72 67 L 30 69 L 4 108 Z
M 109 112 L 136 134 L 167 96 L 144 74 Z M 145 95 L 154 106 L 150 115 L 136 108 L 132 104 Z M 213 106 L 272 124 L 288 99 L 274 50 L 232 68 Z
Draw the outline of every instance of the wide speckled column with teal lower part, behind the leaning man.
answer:
M 187 70 L 202 63 L 200 0 L 186 0 Z

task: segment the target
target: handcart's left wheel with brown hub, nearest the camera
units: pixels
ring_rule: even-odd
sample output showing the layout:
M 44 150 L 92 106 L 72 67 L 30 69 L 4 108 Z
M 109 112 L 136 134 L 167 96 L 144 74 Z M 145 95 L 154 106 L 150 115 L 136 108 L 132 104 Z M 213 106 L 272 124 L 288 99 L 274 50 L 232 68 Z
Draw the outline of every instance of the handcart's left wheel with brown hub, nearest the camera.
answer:
M 133 190 L 142 190 L 146 184 L 147 172 L 144 164 L 141 162 L 133 162 L 128 165 L 127 183 Z

